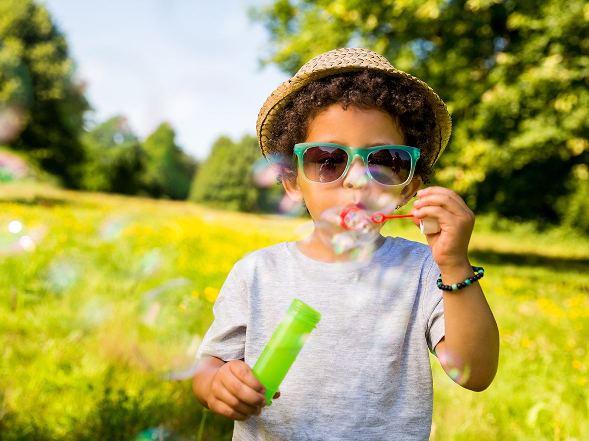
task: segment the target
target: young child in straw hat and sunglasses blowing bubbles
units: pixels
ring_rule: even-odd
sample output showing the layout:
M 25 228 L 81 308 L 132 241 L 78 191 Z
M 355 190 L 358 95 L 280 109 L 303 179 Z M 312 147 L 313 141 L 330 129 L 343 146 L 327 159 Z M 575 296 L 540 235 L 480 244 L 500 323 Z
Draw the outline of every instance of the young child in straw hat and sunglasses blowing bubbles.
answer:
M 477 391 L 494 378 L 499 353 L 477 282 L 482 269 L 467 256 L 474 214 L 449 189 L 418 191 L 448 143 L 444 102 L 375 52 L 337 49 L 280 85 L 257 128 L 270 161 L 293 158 L 282 163 L 280 179 L 305 203 L 315 230 L 236 263 L 198 352 L 194 394 L 236 420 L 237 440 L 427 440 L 428 348 L 452 379 Z M 338 250 L 325 240 L 325 213 L 389 214 L 415 192 L 414 221 L 439 224 L 426 235 L 429 246 L 385 238 L 382 224 L 362 259 L 353 246 Z M 265 408 L 251 367 L 293 298 L 322 319 L 280 398 Z

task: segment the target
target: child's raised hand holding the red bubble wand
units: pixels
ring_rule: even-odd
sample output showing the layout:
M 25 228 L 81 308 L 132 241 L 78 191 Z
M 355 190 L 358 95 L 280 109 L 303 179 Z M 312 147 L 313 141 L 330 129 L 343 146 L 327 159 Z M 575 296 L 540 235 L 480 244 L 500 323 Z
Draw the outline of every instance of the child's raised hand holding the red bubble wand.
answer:
M 458 268 L 468 266 L 468 242 L 475 224 L 475 215 L 454 191 L 444 187 L 428 187 L 417 192 L 411 214 L 419 219 L 435 218 L 440 232 L 426 235 L 432 256 L 438 266 Z

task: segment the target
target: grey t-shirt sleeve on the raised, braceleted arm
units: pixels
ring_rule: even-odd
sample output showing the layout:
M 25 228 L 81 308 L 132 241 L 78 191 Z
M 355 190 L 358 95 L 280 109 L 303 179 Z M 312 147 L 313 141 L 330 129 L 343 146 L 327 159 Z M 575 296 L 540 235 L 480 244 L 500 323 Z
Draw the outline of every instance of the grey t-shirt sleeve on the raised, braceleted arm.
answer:
M 436 345 L 445 335 L 444 326 L 444 298 L 442 290 L 436 285 L 438 279 L 439 268 L 432 256 L 426 260 L 426 268 L 429 266 L 429 271 L 425 278 L 425 286 L 423 286 L 423 319 L 426 323 L 425 338 L 428 342 L 428 348 L 431 353 L 434 353 Z

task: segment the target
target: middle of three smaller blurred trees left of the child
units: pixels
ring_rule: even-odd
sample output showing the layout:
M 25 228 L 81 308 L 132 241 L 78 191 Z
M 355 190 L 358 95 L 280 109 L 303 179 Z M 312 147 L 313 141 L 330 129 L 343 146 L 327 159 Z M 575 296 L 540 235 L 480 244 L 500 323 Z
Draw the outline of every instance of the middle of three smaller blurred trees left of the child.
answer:
M 143 182 L 155 197 L 186 199 L 196 163 L 174 142 L 176 133 L 162 123 L 143 143 L 147 155 Z

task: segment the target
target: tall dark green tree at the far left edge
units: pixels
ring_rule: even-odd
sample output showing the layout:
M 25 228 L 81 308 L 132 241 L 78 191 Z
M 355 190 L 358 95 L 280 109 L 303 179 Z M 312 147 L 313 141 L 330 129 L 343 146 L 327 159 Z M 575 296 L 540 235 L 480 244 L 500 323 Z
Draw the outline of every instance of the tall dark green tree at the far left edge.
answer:
M 75 82 L 64 36 L 44 5 L 0 2 L 0 112 L 12 112 L 6 142 L 70 187 L 80 185 L 79 142 L 89 106 Z

